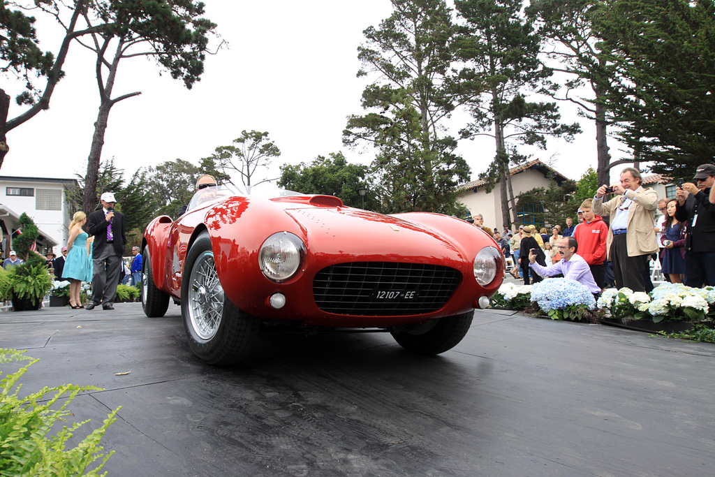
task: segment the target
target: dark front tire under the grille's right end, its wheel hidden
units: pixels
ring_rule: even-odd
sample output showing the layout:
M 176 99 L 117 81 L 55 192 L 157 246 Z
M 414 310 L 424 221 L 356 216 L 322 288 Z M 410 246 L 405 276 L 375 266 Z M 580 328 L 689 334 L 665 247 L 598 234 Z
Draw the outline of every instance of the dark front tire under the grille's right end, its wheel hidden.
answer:
M 474 310 L 447 316 L 421 325 L 390 331 L 398 345 L 423 356 L 433 356 L 454 348 L 472 325 Z

